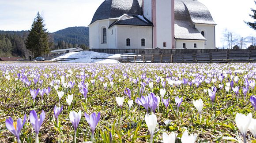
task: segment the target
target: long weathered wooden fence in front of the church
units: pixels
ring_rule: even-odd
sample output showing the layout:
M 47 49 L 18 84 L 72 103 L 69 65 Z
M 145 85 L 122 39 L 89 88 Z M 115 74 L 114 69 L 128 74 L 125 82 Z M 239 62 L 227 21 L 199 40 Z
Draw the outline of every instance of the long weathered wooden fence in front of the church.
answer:
M 120 61 L 135 63 L 256 62 L 256 50 L 228 50 L 203 54 L 121 54 Z

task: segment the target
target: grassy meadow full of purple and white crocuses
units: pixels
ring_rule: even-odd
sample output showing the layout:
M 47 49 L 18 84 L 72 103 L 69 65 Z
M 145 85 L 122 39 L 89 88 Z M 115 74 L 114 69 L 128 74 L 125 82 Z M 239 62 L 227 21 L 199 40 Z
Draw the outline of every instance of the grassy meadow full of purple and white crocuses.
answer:
M 254 63 L 0 63 L 0 75 L 1 143 L 256 138 Z

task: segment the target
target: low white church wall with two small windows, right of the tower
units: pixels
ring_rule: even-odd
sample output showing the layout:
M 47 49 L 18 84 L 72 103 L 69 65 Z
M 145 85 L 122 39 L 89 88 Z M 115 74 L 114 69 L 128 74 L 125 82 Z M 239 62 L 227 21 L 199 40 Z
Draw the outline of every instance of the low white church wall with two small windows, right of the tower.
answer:
M 205 49 L 203 40 L 181 40 L 176 39 L 176 49 L 184 49 L 183 43 L 186 44 L 187 49 Z M 194 43 L 196 43 L 196 48 L 194 48 Z

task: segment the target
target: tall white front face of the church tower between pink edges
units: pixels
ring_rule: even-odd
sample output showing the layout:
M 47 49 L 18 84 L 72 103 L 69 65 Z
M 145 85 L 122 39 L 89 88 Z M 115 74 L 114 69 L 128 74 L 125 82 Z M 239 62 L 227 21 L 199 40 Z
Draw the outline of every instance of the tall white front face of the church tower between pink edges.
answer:
M 172 0 L 156 0 L 156 33 L 154 35 L 156 34 L 156 47 L 158 48 L 172 48 L 171 5 Z M 166 42 L 166 47 L 164 47 L 164 42 Z

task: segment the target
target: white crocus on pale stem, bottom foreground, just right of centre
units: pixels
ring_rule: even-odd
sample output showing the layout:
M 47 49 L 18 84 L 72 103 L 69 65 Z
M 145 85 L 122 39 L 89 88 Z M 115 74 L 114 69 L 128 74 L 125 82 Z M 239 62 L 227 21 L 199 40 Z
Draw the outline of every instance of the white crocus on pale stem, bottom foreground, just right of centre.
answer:
M 150 133 L 150 141 L 151 143 L 153 142 L 153 136 L 154 136 L 154 130 L 156 128 L 156 124 L 157 124 L 157 118 L 156 118 L 156 115 L 155 114 L 146 114 L 145 115 L 145 122 L 147 124 L 147 128 L 148 128 L 148 131 Z

